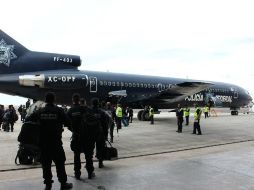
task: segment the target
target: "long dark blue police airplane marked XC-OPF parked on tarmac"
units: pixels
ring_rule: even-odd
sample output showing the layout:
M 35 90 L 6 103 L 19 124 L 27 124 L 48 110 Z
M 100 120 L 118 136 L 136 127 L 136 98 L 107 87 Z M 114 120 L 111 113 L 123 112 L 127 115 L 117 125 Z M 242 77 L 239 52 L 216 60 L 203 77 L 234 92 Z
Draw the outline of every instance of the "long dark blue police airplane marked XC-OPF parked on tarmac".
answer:
M 54 92 L 58 104 L 71 105 L 73 93 L 87 101 L 118 101 L 125 106 L 155 110 L 175 109 L 178 104 L 227 107 L 238 115 L 252 103 L 245 89 L 223 82 L 123 73 L 81 71 L 76 55 L 30 51 L 0 30 L 0 92 L 43 100 Z M 138 112 L 139 120 L 148 113 Z

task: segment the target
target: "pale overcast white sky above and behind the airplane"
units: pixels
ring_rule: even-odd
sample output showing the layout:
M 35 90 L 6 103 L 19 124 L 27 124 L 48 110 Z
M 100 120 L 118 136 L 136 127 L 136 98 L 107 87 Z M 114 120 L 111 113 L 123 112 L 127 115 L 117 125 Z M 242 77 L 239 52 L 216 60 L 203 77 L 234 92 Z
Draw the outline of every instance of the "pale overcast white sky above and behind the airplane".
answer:
M 4 32 L 32 51 L 79 55 L 80 70 L 221 81 L 254 95 L 252 0 L 0 1 Z

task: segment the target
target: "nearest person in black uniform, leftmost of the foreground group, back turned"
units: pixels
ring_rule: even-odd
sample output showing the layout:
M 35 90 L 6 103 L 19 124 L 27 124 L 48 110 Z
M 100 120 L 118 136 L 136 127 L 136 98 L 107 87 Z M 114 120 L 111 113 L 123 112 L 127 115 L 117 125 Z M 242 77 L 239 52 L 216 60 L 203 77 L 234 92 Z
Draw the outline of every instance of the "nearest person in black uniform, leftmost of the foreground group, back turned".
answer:
M 32 113 L 27 120 L 38 121 L 40 124 L 39 147 L 41 149 L 41 164 L 45 190 L 52 188 L 51 164 L 54 161 L 61 190 L 71 189 L 72 183 L 67 183 L 65 171 L 65 152 L 62 143 L 63 125 L 70 127 L 70 120 L 62 108 L 54 105 L 54 93 L 47 93 L 44 108 Z

